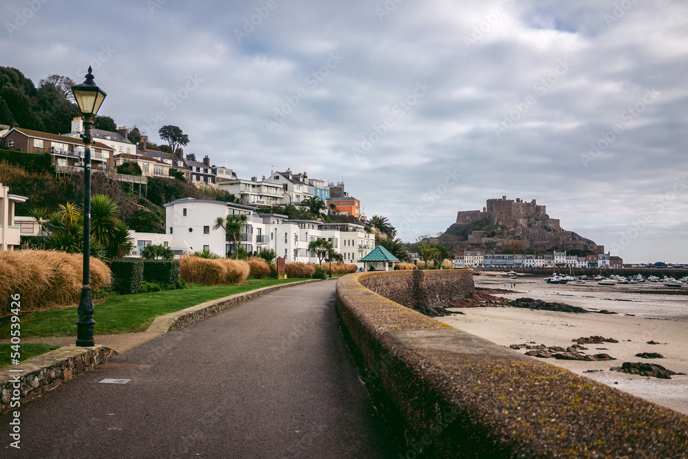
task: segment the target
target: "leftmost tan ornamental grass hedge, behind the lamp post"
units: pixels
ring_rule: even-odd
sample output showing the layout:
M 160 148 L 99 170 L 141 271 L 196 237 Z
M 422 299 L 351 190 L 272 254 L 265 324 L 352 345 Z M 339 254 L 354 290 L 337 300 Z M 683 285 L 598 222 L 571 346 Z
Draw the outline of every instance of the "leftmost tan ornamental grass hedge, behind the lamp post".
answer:
M 22 312 L 77 303 L 81 296 L 83 257 L 55 250 L 0 252 L 0 314 L 9 314 L 10 295 L 20 296 Z M 91 258 L 93 290 L 111 285 L 110 270 Z

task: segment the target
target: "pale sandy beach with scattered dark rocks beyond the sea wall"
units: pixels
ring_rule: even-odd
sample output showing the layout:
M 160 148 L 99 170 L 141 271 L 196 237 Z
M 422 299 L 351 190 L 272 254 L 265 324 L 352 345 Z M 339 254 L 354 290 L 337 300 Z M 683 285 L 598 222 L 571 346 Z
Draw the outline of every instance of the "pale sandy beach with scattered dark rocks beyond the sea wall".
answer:
M 460 308 L 450 310 L 461 311 L 465 315 L 440 317 L 438 320 L 506 347 L 532 341 L 567 348 L 574 344 L 574 339 L 594 335 L 616 339 L 619 343 L 585 345 L 588 348 L 586 354 L 604 352 L 614 357 L 614 361 L 538 360 L 688 414 L 688 376 L 676 375 L 667 380 L 609 371 L 610 367 L 620 367 L 623 362 L 647 362 L 688 374 L 688 295 L 663 294 L 668 288 L 647 282 L 617 286 L 598 286 L 594 281 L 551 285 L 541 277 L 510 279 L 497 277 L 496 273 L 473 279 L 476 287 L 502 289 L 495 295 L 508 299 L 530 297 L 579 306 L 592 312 L 608 310 L 618 314 Z M 652 345 L 647 341 L 660 344 Z M 524 353 L 526 350 L 514 352 Z M 657 352 L 664 358 L 642 359 L 635 356 L 639 352 Z M 603 371 L 585 373 L 587 370 Z

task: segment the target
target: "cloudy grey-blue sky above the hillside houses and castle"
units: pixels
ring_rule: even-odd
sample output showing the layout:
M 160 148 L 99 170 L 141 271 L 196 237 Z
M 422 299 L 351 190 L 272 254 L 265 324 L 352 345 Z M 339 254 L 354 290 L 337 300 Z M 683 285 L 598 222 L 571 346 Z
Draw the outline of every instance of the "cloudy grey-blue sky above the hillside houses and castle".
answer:
M 630 262 L 688 262 L 684 0 L 9 0 L 1 65 L 107 92 L 240 178 L 345 182 L 412 241 L 536 199 Z

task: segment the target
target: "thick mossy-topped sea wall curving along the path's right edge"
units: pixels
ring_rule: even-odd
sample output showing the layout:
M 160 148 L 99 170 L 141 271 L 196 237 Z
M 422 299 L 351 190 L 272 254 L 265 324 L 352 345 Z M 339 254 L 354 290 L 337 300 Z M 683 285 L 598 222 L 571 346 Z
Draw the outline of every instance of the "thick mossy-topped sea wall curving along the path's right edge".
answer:
M 363 285 L 400 299 L 413 291 L 409 283 L 408 273 L 360 273 L 336 288 L 363 380 L 405 445 L 400 457 L 688 457 L 688 417 L 451 328 Z

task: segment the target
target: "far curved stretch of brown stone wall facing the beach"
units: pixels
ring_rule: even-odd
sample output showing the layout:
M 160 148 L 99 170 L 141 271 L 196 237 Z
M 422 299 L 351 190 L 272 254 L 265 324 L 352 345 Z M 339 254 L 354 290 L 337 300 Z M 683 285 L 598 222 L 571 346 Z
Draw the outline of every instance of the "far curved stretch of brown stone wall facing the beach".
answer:
M 409 270 L 370 273 L 361 284 L 378 295 L 429 316 L 475 292 L 473 270 Z

